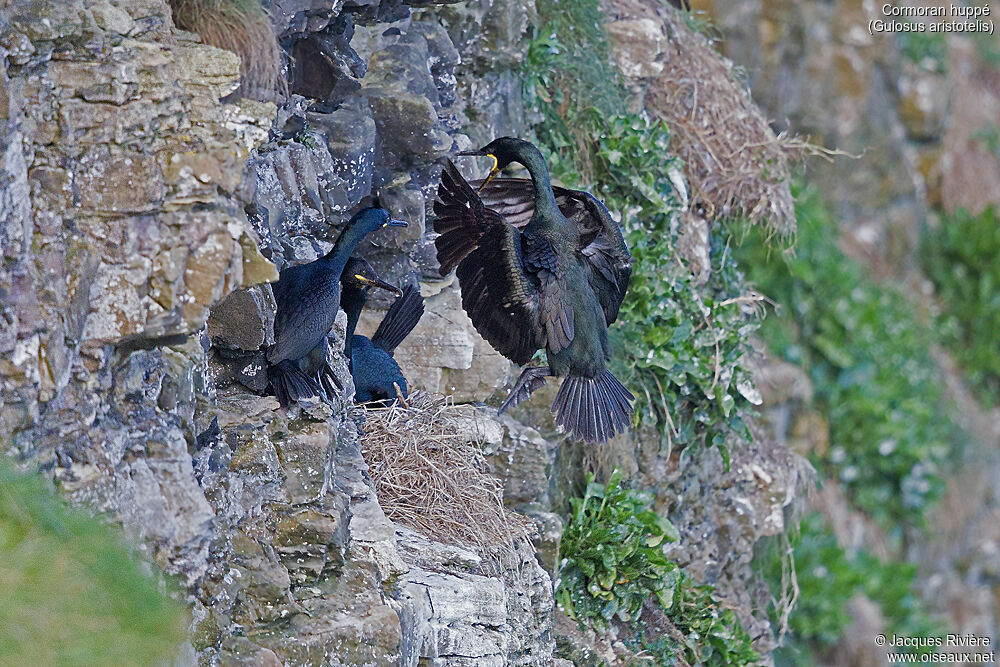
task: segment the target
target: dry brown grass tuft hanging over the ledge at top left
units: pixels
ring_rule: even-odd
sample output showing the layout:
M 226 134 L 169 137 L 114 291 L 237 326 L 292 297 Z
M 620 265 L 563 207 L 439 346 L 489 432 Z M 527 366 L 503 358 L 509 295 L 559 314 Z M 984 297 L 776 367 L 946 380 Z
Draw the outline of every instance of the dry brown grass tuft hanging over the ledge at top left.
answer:
M 174 24 L 240 57 L 243 95 L 262 101 L 284 93 L 283 52 L 258 0 L 170 0 Z

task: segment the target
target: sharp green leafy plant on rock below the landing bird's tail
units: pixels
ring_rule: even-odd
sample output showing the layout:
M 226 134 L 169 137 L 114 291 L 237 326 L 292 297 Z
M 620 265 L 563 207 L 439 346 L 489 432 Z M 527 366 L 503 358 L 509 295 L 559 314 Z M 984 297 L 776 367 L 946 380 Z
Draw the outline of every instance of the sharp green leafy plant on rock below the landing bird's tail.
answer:
M 633 647 L 658 664 L 672 664 L 678 655 L 689 664 L 756 662 L 732 610 L 720 606 L 711 586 L 695 584 L 664 555 L 664 543 L 676 540 L 677 532 L 651 502 L 649 494 L 624 487 L 618 471 L 607 484 L 588 480 L 583 498 L 570 501 L 560 542 L 560 607 L 596 627 L 614 619 L 627 624 Z M 672 632 L 649 631 L 655 620 L 638 622 L 650 605 Z

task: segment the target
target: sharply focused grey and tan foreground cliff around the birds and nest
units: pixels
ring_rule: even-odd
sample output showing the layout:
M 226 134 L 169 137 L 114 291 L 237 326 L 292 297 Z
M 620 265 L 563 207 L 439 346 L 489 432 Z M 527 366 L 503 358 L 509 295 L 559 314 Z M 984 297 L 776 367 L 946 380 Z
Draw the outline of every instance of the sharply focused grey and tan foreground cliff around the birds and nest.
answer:
M 551 421 L 484 409 L 492 427 L 469 433 L 540 526 L 487 567 L 386 518 L 349 392 L 287 414 L 258 395 L 267 281 L 328 250 L 373 193 L 410 226 L 359 253 L 427 299 L 398 355 L 413 384 L 472 401 L 507 380 L 438 274 L 428 211 L 436 160 L 526 131 L 531 9 L 438 4 L 277 0 L 294 57 L 280 108 L 231 100 L 238 59 L 175 29 L 166 0 L 0 5 L 2 444 L 176 576 L 193 609 L 184 662 L 552 660 L 568 463 Z M 328 359 L 349 387 L 343 326 Z M 674 557 L 769 636 L 748 561 L 781 529 L 798 463 L 761 446 L 725 471 L 619 446 L 682 529 Z

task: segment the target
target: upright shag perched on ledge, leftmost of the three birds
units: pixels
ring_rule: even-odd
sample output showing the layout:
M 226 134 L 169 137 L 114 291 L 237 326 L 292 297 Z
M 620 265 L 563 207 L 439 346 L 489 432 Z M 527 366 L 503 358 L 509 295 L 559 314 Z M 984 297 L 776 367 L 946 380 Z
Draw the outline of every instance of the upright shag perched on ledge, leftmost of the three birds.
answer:
M 320 384 L 299 368 L 298 361 L 323 342 L 340 309 L 340 276 L 358 243 L 388 226 L 405 227 L 388 211 L 366 208 L 354 215 L 324 257 L 281 272 L 271 287 L 277 311 L 274 345 L 267 350 L 268 378 L 282 406 L 320 393 Z

